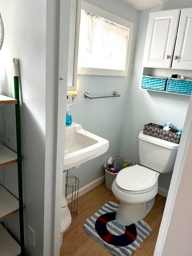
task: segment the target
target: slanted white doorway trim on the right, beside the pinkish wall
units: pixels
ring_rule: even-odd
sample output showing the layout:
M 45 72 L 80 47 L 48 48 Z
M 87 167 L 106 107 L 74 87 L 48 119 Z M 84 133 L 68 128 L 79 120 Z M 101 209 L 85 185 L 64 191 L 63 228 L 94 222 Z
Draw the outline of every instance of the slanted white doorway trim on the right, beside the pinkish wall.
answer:
M 166 235 L 170 225 L 170 220 L 172 218 L 174 202 L 178 192 L 178 185 L 180 183 L 181 173 L 183 170 L 183 166 L 184 166 L 184 162 L 185 162 L 191 137 L 192 137 L 192 97 L 190 98 L 190 102 L 189 102 L 189 107 L 188 107 L 186 120 L 184 124 L 184 132 L 181 137 L 180 146 L 179 146 L 178 154 L 176 157 L 176 162 L 175 162 L 175 166 L 172 174 L 172 180 L 170 183 L 170 188 L 168 191 L 168 196 L 167 196 L 166 205 L 164 209 L 164 214 L 163 214 L 163 218 L 162 218 L 162 222 L 160 225 L 160 230 L 159 230 L 159 234 L 156 242 L 154 256 L 162 256 Z

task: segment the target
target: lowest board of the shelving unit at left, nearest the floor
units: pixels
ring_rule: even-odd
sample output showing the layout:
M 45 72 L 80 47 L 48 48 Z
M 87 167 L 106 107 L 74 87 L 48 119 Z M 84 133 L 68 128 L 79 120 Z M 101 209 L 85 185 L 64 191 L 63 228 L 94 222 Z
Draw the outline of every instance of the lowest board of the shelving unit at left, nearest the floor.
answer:
M 20 256 L 21 248 L 18 243 L 10 236 L 7 230 L 0 224 L 0 255 L 1 256 Z

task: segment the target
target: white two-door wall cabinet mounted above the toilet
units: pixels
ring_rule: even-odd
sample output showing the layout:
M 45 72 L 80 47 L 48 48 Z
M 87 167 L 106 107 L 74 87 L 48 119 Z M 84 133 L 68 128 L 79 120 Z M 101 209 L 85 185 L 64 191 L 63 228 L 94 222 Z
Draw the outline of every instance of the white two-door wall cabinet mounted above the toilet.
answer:
M 152 12 L 142 66 L 192 70 L 191 46 L 192 8 Z

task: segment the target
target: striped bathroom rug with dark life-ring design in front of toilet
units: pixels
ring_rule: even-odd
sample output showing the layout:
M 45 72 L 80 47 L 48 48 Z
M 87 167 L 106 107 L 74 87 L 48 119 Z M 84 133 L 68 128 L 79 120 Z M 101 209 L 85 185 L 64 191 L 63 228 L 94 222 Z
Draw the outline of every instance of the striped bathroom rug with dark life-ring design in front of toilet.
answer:
M 122 226 L 115 220 L 118 204 L 107 202 L 86 220 L 85 232 L 116 256 L 130 256 L 152 232 L 144 220 Z

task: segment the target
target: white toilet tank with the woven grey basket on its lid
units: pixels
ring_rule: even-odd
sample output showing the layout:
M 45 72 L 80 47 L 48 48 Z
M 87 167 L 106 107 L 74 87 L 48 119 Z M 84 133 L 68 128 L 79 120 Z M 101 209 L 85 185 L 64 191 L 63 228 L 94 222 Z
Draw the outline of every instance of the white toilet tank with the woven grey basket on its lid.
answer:
M 139 136 L 140 163 L 160 173 L 172 172 L 179 145 L 155 138 L 143 131 Z

